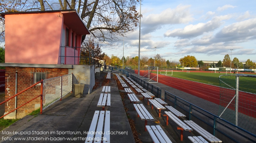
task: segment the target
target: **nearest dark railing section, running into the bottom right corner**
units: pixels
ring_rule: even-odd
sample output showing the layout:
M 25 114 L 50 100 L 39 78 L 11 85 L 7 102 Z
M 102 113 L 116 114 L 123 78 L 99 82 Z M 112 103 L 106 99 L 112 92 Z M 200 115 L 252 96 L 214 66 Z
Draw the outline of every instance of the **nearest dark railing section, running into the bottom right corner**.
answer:
M 256 135 L 194 105 L 168 91 L 164 91 L 164 101 L 193 120 L 222 142 L 256 142 Z

